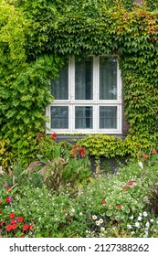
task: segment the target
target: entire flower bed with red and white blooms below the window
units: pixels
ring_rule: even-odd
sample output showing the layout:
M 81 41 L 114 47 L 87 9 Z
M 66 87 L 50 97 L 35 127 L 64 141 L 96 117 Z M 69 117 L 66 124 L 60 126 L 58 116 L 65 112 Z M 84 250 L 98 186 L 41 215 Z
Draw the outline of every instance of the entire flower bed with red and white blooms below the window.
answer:
M 67 155 L 67 165 L 61 165 L 66 159 L 59 155 L 56 147 L 51 161 L 40 155 L 26 170 L 16 164 L 0 176 L 2 237 L 158 236 L 156 150 L 121 165 L 113 175 L 98 165 L 95 177 L 79 145 Z

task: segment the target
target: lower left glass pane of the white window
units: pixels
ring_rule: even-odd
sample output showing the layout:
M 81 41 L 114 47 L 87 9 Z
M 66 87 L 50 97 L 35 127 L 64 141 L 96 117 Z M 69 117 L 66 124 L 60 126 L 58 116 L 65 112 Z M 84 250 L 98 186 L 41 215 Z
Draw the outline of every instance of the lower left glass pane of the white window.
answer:
M 68 129 L 68 106 L 51 107 L 51 128 Z

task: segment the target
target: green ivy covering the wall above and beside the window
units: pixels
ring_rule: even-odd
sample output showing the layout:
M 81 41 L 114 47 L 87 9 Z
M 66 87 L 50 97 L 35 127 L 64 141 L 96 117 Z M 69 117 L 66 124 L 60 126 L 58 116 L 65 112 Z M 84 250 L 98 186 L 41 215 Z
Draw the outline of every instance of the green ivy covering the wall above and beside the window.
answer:
M 0 1 L 0 161 L 32 157 L 45 108 L 48 79 L 69 56 L 117 54 L 124 111 L 133 144 L 157 146 L 158 1 Z

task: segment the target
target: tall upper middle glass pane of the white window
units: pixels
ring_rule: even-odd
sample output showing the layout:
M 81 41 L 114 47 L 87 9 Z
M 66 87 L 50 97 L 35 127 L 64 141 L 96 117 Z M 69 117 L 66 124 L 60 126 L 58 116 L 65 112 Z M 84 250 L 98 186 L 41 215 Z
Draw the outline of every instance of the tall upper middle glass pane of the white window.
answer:
M 93 98 L 93 59 L 75 61 L 75 100 Z

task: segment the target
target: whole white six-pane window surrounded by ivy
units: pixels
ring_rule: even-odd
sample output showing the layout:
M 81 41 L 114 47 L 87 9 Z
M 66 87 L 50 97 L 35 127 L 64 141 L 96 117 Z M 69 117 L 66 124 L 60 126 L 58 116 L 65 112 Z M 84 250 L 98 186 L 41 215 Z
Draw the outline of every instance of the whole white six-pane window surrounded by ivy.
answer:
M 47 133 L 121 133 L 121 72 L 116 57 L 71 58 L 50 82 Z

